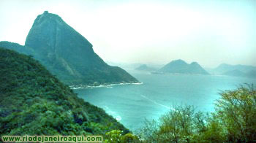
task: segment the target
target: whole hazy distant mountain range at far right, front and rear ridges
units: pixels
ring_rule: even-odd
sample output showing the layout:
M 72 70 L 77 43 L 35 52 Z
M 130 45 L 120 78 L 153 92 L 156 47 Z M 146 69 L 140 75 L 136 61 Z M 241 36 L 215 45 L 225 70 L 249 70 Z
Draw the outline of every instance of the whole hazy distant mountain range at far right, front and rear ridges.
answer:
M 230 65 L 222 63 L 215 69 L 208 70 L 211 74 L 222 74 L 233 77 L 256 77 L 256 66 Z

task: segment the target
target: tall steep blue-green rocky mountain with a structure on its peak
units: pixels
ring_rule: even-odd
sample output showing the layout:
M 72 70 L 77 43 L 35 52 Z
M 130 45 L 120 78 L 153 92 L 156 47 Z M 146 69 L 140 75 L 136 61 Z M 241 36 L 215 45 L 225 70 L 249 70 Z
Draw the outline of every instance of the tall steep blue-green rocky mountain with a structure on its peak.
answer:
M 124 69 L 105 63 L 94 53 L 93 46 L 85 37 L 67 25 L 59 15 L 47 11 L 34 20 L 25 46 L 15 48 L 13 43 L 8 45 L 6 42 L 0 46 L 13 47 L 10 49 L 33 55 L 69 85 L 138 82 Z

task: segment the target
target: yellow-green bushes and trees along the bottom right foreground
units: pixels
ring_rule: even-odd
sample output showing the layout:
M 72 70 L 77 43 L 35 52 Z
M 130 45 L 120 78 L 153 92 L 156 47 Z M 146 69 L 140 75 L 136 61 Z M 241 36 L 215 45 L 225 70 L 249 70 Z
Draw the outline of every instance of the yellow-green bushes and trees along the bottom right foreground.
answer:
M 252 85 L 220 93 L 216 112 L 196 112 L 192 106 L 176 107 L 159 120 L 146 121 L 138 134 L 111 131 L 116 142 L 256 142 L 256 90 Z M 107 137 L 108 137 L 107 136 Z M 129 136 L 129 137 L 128 137 Z

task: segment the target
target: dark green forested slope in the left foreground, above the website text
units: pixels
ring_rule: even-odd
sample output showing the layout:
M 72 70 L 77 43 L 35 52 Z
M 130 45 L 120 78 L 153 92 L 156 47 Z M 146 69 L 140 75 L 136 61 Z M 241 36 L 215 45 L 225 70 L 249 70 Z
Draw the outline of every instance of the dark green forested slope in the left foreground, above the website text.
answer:
M 129 132 L 103 109 L 78 98 L 31 56 L 0 48 L 0 74 L 1 135 Z

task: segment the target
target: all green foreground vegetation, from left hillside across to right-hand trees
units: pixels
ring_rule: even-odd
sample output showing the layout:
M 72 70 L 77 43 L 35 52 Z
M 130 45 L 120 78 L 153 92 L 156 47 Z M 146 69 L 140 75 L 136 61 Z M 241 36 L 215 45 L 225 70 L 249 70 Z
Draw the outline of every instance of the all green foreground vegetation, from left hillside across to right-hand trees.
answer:
M 256 142 L 256 90 L 225 90 L 216 111 L 176 107 L 131 134 L 31 56 L 0 48 L 0 135 L 102 134 L 105 142 Z

